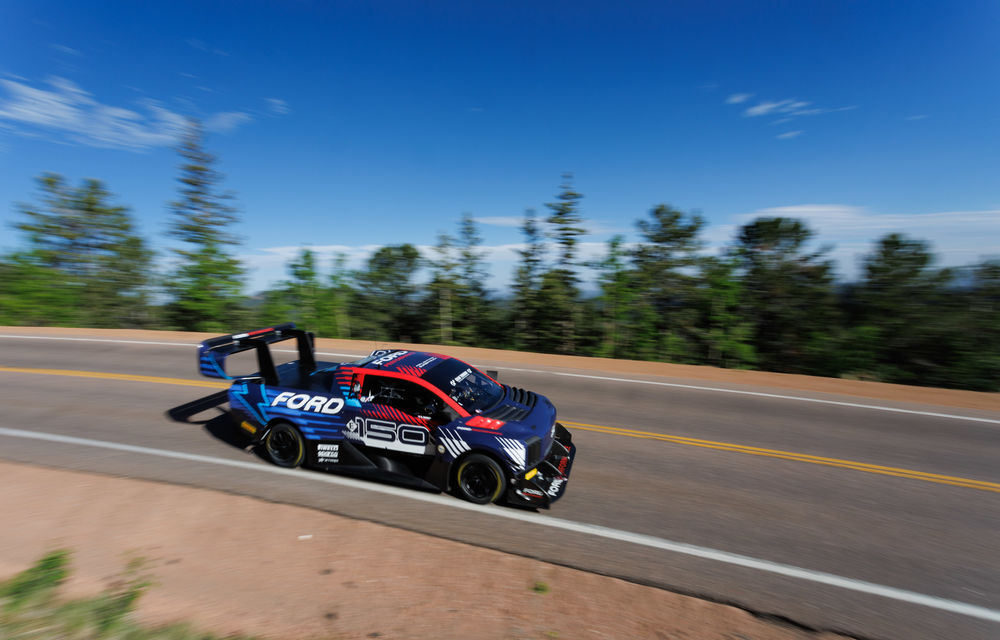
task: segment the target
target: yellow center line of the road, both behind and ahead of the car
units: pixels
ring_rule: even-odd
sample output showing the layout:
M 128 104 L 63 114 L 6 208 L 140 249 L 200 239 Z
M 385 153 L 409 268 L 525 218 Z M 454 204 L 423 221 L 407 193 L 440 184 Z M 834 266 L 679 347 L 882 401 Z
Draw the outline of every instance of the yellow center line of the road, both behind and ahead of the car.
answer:
M 78 371 L 75 369 L 29 369 L 25 367 L 3 367 L 2 373 L 25 373 L 49 376 L 70 376 L 74 378 L 92 378 L 98 380 L 122 380 L 126 382 L 147 382 L 153 384 L 172 384 L 186 387 L 201 387 L 204 389 L 225 389 L 229 387 L 227 382 L 213 382 L 210 380 L 185 380 L 183 378 L 163 378 L 159 376 L 140 376 L 128 373 L 105 373 L 101 371 Z M 865 473 L 877 473 L 898 478 L 909 478 L 911 480 L 922 480 L 924 482 L 934 482 L 968 489 L 978 489 L 980 491 L 992 491 L 1000 493 L 1000 484 L 996 482 L 986 482 L 984 480 L 972 480 L 970 478 L 960 478 L 955 476 L 945 476 L 936 473 L 926 473 L 913 469 L 901 469 L 898 467 L 885 467 L 866 462 L 856 462 L 853 460 L 841 460 L 839 458 L 824 458 L 806 453 L 795 453 L 792 451 L 781 451 L 779 449 L 764 449 L 761 447 L 750 447 L 746 445 L 734 444 L 731 442 L 717 442 L 714 440 L 701 440 L 686 436 L 673 436 L 665 433 L 653 433 L 651 431 L 639 431 L 637 429 L 624 429 L 621 427 L 607 427 L 598 424 L 587 424 L 584 422 L 568 422 L 563 424 L 574 429 L 584 431 L 595 431 L 615 436 L 626 436 L 630 438 L 642 438 L 646 440 L 659 440 L 673 444 L 682 444 L 690 447 L 701 447 L 703 449 L 714 449 L 716 451 L 729 451 L 733 453 L 745 453 L 754 456 L 765 456 L 768 458 L 778 458 L 781 460 L 792 460 L 795 462 L 807 462 L 827 467 L 838 467 L 841 469 L 851 469 L 853 471 L 863 471 Z

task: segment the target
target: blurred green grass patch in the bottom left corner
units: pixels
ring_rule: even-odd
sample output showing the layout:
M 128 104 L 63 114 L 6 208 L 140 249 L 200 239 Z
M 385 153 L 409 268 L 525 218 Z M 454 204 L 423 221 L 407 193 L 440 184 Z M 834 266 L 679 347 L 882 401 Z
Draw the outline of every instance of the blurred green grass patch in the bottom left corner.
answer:
M 0 583 L 0 638 L 18 640 L 215 640 L 187 625 L 146 628 L 130 615 L 152 584 L 142 561 L 92 598 L 61 600 L 58 589 L 69 577 L 69 552 L 53 551 L 30 569 Z M 232 638 L 230 636 L 230 638 Z

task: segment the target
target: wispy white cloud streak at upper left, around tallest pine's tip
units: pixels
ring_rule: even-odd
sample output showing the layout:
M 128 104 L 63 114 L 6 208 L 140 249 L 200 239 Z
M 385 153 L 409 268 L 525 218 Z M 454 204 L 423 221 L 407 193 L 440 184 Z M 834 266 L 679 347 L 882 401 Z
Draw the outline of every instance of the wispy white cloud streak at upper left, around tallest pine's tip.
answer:
M 22 136 L 47 130 L 64 136 L 56 142 L 129 151 L 172 146 L 187 126 L 183 115 L 154 100 L 141 101 L 140 109 L 133 110 L 102 104 L 66 78 L 49 78 L 47 85 L 0 79 L 0 122 L 16 125 Z M 242 112 L 223 112 L 210 115 L 206 128 L 228 132 L 251 119 Z

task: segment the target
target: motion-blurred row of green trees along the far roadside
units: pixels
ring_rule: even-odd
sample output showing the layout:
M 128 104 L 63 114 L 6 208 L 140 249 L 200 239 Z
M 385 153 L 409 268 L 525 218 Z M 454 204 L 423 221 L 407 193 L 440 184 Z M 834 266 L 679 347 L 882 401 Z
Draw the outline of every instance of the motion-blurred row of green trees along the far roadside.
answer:
M 1000 260 L 938 268 L 928 242 L 889 233 L 857 281 L 838 283 L 802 220 L 758 218 L 708 255 L 704 219 L 660 204 L 635 221 L 636 242 L 615 236 L 587 261 L 583 195 L 565 175 L 544 215 L 524 214 L 509 290 L 488 289 L 466 214 L 429 256 L 388 245 L 349 269 L 303 249 L 285 281 L 249 298 L 238 212 L 197 122 L 178 152 L 165 269 L 99 180 L 41 176 L 38 202 L 18 206 L 24 247 L 0 257 L 0 324 L 236 332 L 292 320 L 332 338 L 1000 390 Z

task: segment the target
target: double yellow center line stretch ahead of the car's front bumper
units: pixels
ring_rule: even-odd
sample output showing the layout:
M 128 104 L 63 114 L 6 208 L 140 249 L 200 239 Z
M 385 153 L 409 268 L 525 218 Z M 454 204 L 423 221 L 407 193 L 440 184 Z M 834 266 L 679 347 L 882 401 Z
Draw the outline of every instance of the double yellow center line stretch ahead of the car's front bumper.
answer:
M 688 438 L 685 436 L 673 436 L 665 433 L 653 433 L 650 431 L 639 431 L 636 429 L 622 429 L 620 427 L 605 427 L 596 424 L 583 422 L 563 421 L 563 424 L 574 429 L 584 431 L 595 431 L 616 436 L 627 436 L 630 438 L 642 438 L 645 440 L 660 440 L 673 444 L 682 444 L 691 447 L 701 447 L 703 449 L 714 449 L 716 451 L 730 451 L 733 453 L 745 453 L 754 456 L 765 456 L 768 458 L 779 458 L 781 460 L 792 460 L 795 462 L 807 462 L 827 467 L 839 467 L 841 469 L 851 469 L 853 471 L 864 471 L 865 473 L 877 473 L 898 478 L 909 478 L 911 480 L 923 480 L 937 484 L 947 484 L 968 489 L 978 489 L 980 491 L 992 491 L 1000 493 L 1000 484 L 996 482 L 986 482 L 985 480 L 972 480 L 971 478 L 960 478 L 946 476 L 937 473 L 926 473 L 913 469 L 902 469 L 898 467 L 886 467 L 867 462 L 855 462 L 853 460 L 841 460 L 839 458 L 824 458 L 806 453 L 795 453 L 792 451 L 781 451 L 779 449 L 764 449 L 762 447 L 749 447 L 745 445 L 733 444 L 730 442 L 717 442 L 714 440 L 701 440 L 698 438 Z

